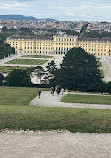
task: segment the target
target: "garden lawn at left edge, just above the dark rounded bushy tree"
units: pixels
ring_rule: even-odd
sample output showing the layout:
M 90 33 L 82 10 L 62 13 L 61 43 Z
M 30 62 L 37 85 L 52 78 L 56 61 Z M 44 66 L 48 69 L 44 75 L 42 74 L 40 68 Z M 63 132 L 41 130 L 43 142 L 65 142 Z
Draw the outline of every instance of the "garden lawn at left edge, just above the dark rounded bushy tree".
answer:
M 26 69 L 27 67 L 19 67 L 19 66 L 0 66 L 0 73 L 10 73 L 14 69 Z

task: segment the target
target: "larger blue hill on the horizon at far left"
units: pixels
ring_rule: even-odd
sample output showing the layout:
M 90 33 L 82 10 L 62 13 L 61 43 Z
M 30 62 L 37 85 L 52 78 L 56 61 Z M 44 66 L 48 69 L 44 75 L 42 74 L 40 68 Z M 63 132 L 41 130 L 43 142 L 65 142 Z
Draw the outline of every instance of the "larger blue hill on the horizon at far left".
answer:
M 0 15 L 1 20 L 37 20 L 33 16 L 24 15 Z

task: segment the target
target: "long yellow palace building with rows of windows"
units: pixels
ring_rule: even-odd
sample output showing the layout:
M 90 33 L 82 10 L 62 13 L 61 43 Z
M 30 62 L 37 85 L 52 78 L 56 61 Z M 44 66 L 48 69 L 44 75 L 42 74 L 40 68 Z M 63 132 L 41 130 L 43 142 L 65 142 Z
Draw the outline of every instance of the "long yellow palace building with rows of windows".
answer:
M 6 42 L 20 54 L 66 54 L 73 47 L 81 47 L 94 55 L 109 56 L 111 39 L 78 38 L 77 36 L 29 37 L 11 36 Z

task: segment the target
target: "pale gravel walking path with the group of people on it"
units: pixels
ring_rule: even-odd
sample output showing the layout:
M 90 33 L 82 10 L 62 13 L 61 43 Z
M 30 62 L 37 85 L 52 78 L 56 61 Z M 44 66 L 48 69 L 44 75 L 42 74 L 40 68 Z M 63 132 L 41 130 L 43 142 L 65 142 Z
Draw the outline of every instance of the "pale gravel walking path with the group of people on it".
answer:
M 67 92 L 65 93 L 67 94 Z M 71 93 L 72 94 L 72 93 Z M 85 95 L 100 95 L 100 94 L 88 94 L 88 93 L 73 93 L 73 94 L 85 94 Z M 111 105 L 100 104 L 85 104 L 85 103 L 64 103 L 60 102 L 62 95 L 51 95 L 50 91 L 43 91 L 41 98 L 37 96 L 34 98 L 30 105 L 45 106 L 45 107 L 69 107 L 69 108 L 89 108 L 89 109 L 111 109 Z

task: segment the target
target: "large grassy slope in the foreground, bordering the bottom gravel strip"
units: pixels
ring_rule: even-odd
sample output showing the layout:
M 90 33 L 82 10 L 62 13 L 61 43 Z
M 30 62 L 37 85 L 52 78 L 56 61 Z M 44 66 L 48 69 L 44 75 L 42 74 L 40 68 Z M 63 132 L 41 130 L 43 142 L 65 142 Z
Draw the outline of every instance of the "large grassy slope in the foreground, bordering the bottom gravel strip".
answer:
M 0 87 L 0 130 L 111 132 L 111 110 L 29 106 L 37 88 Z

